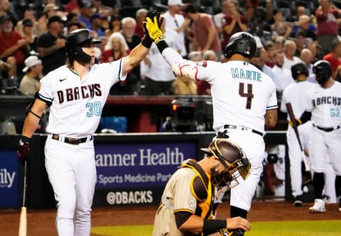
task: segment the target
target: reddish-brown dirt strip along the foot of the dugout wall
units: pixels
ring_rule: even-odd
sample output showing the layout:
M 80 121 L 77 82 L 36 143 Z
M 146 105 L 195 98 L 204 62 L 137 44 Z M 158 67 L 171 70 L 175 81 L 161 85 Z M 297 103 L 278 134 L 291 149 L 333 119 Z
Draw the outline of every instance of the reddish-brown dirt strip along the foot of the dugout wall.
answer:
M 337 204 L 328 204 L 325 213 L 308 213 L 310 203 L 294 208 L 285 201 L 254 202 L 249 213 L 249 220 L 340 220 L 341 213 Z M 94 208 L 92 226 L 107 225 L 151 225 L 158 206 L 126 206 L 112 208 Z M 220 204 L 217 218 L 227 216 L 229 205 Z M 28 209 L 28 236 L 56 235 L 55 210 Z M 0 210 L 0 235 L 18 235 L 19 210 Z

